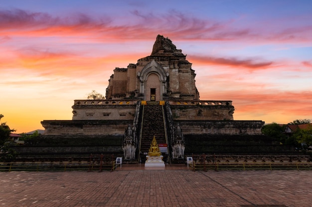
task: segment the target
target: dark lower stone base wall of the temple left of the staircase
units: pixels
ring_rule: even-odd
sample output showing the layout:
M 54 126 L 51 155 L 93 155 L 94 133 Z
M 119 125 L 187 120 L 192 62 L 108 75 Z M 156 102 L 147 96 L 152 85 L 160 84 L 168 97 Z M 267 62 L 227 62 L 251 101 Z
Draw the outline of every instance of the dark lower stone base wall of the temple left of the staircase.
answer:
M 90 154 L 123 156 L 123 136 L 58 135 L 39 136 L 12 146 L 18 157 L 88 157 Z

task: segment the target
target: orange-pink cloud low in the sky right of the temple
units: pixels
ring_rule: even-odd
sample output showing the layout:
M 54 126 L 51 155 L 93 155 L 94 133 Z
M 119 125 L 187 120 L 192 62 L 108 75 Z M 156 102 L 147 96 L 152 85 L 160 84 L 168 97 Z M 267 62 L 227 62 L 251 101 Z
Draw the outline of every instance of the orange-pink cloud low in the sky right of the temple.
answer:
M 312 118 L 312 91 L 253 91 L 248 89 L 244 91 L 203 91 L 200 92 L 200 99 L 232 100 L 235 114 L 250 113 L 249 117 L 251 114 L 255 114 L 256 119 L 276 113 L 282 116 L 294 116 L 296 114 L 297 116 L 310 116 L 310 119 Z M 301 117 L 297 117 L 297 119 L 301 119 Z M 284 120 L 285 123 L 290 121 L 293 120 Z

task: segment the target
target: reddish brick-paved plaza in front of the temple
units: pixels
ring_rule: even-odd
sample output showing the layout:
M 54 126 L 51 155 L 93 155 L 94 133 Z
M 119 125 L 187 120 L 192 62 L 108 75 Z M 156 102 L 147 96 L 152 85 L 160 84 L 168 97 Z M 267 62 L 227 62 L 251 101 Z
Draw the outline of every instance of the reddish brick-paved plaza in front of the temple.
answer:
M 1 172 L 3 207 L 311 207 L 312 171 Z

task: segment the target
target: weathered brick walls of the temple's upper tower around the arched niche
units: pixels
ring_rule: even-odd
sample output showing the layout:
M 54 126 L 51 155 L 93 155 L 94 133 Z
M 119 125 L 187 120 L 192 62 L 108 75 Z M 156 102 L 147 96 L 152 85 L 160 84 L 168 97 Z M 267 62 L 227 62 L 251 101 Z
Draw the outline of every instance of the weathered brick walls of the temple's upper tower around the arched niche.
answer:
M 167 41 L 166 38 L 158 36 L 154 45 L 154 48 L 157 49 L 153 50 L 151 56 L 139 59 L 136 65 L 130 64 L 127 69 L 114 69 L 114 75 L 110 78 L 107 91 L 108 99 L 118 99 L 119 96 L 123 98 L 124 95 L 130 97 L 131 93 L 140 91 L 142 85 L 144 85 L 145 91 L 140 91 L 141 94 L 137 93 L 136 97 L 142 97 L 142 93 L 144 93 L 146 100 L 150 100 L 151 85 L 147 85 L 148 81 L 142 79 L 143 77 L 140 74 L 144 70 L 147 70 L 148 73 L 151 72 L 149 64 L 155 62 L 156 66 L 154 67 L 157 71 L 153 71 L 153 73 L 156 72 L 160 76 L 166 77 L 162 80 L 165 82 L 158 82 L 152 85 L 153 88 L 161 88 L 160 99 L 162 94 L 165 94 L 169 98 L 198 100 L 199 97 L 194 79 L 195 74 L 194 70 L 191 69 L 192 64 L 186 60 L 186 56 L 182 54 L 182 51 L 177 50 L 172 43 L 166 44 Z M 162 87 L 166 88 L 162 89 Z M 156 97 L 156 100 L 160 99 Z

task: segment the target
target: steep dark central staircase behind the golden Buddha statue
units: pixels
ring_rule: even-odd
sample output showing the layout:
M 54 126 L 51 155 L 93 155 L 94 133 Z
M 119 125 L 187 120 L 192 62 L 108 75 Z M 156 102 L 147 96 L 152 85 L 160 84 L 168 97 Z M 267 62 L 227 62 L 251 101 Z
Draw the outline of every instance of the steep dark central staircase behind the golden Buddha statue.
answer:
M 144 106 L 141 131 L 141 152 L 149 152 L 153 137 L 157 143 L 166 143 L 162 106 L 159 102 L 148 101 Z

